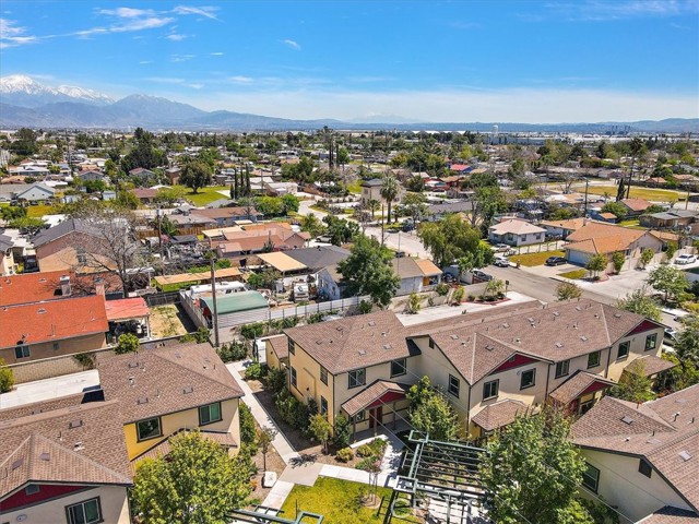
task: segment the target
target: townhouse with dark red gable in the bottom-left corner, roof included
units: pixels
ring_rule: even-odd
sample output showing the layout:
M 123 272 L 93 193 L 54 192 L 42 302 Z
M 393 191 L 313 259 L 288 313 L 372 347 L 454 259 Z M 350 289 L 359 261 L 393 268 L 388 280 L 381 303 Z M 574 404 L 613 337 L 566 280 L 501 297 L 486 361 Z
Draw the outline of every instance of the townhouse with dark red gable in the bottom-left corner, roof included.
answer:
M 81 393 L 0 409 L 0 522 L 131 522 L 117 401 Z

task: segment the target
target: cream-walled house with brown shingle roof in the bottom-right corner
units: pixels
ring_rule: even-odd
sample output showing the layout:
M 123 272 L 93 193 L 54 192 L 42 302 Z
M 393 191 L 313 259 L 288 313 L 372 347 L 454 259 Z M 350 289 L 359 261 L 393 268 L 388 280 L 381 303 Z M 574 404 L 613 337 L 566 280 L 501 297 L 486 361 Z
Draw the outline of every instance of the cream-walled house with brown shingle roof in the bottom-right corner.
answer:
M 604 397 L 572 427 L 585 489 L 623 522 L 699 522 L 699 384 L 644 404 Z

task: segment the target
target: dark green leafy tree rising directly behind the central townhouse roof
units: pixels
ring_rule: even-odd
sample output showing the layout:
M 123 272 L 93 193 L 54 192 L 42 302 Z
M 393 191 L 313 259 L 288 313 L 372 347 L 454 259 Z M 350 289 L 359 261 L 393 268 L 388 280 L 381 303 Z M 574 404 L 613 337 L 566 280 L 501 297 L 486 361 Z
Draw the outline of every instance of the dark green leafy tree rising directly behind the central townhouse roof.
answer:
M 393 273 L 392 259 L 392 251 L 376 239 L 358 235 L 350 257 L 337 264 L 347 296 L 369 295 L 374 303 L 386 308 L 401 283 Z

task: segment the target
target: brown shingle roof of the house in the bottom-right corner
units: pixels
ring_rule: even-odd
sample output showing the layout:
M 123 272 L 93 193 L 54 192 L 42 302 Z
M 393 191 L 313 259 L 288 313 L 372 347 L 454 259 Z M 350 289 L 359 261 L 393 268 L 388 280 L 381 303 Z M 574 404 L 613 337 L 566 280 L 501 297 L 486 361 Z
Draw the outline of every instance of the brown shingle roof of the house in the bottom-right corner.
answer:
M 699 508 L 699 384 L 640 405 L 605 396 L 572 436 L 583 448 L 643 456 Z

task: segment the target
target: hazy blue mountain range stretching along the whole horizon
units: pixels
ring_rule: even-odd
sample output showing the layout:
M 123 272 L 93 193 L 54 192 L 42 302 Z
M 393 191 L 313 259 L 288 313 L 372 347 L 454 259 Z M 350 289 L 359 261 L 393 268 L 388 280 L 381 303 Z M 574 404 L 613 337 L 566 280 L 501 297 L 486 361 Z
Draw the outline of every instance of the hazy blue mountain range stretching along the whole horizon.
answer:
M 203 111 L 187 104 L 147 95 L 115 100 L 83 87 L 50 87 L 29 76 L 0 79 L 0 128 L 71 128 L 182 131 L 296 131 L 324 126 L 345 130 L 491 131 L 493 122 L 422 122 L 400 116 L 370 115 L 350 121 L 334 119 L 291 120 L 226 110 Z M 498 122 L 499 132 L 606 133 L 628 127 L 631 132 L 699 132 L 699 119 L 671 118 L 660 121 L 534 124 Z

